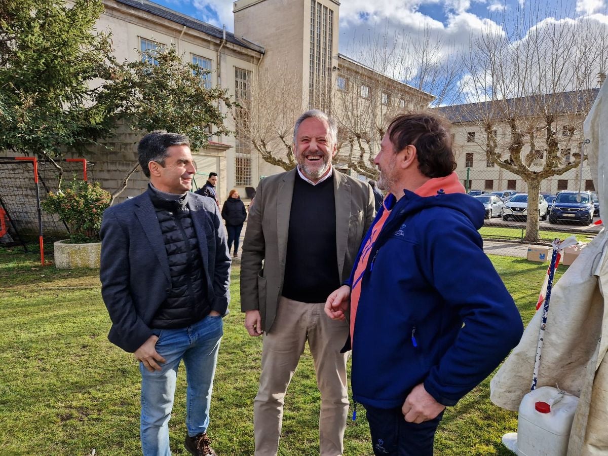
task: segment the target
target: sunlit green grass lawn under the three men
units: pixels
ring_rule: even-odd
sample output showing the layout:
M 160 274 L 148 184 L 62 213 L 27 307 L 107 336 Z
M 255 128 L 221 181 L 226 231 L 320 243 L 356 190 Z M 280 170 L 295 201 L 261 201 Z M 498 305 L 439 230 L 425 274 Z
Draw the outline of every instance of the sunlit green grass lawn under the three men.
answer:
M 511 257 L 491 260 L 527 323 L 547 264 Z M 565 268 L 560 269 L 557 277 Z M 209 434 L 219 455 L 254 451 L 261 339 L 249 337 L 243 328 L 239 273 L 236 264 L 211 406 Z M 106 338 L 109 318 L 98 271 L 41 268 L 35 254 L 0 248 L 0 289 L 0 455 L 76 456 L 93 450 L 101 456 L 140 454 L 139 371 L 133 355 Z M 188 454 L 184 409 L 182 367 L 170 422 L 176 455 Z M 279 454 L 318 455 L 318 416 L 319 392 L 307 350 L 286 398 Z M 435 454 L 510 455 L 500 438 L 516 428 L 516 413 L 489 401 L 486 379 L 447 409 Z M 372 454 L 368 438 L 365 412 L 358 407 L 357 420 L 347 423 L 345 454 Z

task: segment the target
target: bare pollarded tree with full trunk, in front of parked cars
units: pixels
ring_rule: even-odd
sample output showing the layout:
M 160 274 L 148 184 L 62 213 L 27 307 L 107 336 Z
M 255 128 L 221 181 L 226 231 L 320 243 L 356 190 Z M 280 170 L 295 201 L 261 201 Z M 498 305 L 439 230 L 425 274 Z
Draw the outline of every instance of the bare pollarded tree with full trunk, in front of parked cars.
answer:
M 551 16 L 566 19 L 542 19 Z M 503 12 L 502 27 L 486 29 L 464 58 L 461 94 L 447 106 L 453 122 L 482 134 L 488 161 L 528 186 L 528 215 L 539 213 L 543 179 L 581 165 L 582 122 L 608 63 L 607 27 L 593 18 L 540 13 L 538 4 Z M 525 240 L 538 241 L 538 217 L 528 216 Z

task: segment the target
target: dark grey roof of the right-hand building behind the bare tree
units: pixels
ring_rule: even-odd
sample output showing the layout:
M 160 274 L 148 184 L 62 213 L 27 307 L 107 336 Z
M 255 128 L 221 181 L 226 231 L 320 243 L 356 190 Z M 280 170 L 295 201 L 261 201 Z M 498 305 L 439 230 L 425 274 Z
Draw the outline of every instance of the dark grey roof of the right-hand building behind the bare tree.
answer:
M 517 113 L 518 117 L 537 116 L 541 111 L 537 106 L 551 105 L 553 114 L 568 112 L 587 112 L 591 108 L 599 89 L 585 89 L 555 94 L 530 95 L 529 97 L 506 98 L 506 100 L 491 100 L 488 102 L 465 103 L 463 105 L 441 106 L 437 108 L 451 122 L 478 122 L 491 117 L 505 117 L 505 103 L 508 108 Z

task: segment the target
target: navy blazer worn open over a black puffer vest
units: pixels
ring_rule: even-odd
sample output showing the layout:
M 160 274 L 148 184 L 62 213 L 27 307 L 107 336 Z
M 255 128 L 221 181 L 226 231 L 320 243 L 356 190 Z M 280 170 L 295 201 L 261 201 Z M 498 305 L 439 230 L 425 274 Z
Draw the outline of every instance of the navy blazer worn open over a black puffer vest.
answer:
M 207 299 L 224 316 L 232 260 L 218 206 L 190 193 L 188 207 L 206 273 Z M 106 209 L 100 236 L 102 297 L 112 320 L 108 339 L 133 352 L 153 335 L 148 325 L 171 291 L 165 243 L 148 192 Z

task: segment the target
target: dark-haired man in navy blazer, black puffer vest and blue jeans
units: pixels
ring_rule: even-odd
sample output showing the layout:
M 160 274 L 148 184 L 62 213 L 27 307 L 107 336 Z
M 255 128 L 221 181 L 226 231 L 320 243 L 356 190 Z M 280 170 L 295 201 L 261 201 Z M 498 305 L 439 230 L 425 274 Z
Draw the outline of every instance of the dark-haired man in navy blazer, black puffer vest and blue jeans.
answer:
M 183 359 L 185 446 L 214 455 L 207 427 L 231 261 L 224 227 L 215 202 L 190 192 L 195 166 L 187 137 L 154 131 L 137 153 L 148 190 L 103 214 L 108 339 L 139 361 L 143 454 L 170 454 L 168 421 Z

